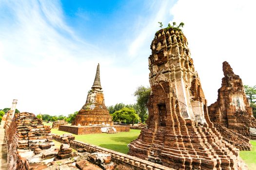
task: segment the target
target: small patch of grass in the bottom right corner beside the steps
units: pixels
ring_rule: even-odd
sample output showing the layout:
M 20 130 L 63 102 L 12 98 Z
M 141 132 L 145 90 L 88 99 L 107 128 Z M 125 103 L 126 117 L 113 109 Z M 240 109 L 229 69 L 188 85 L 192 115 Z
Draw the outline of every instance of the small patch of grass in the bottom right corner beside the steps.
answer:
M 249 170 L 256 170 L 256 140 L 250 140 L 252 151 L 240 151 L 240 156 L 247 164 Z

